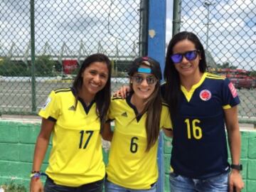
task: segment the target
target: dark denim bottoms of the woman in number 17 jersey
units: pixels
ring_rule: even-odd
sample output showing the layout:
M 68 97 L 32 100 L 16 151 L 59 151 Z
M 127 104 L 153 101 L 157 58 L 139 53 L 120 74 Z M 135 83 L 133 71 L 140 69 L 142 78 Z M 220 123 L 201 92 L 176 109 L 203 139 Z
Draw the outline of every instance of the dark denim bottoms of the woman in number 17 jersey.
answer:
M 78 187 L 60 186 L 47 177 L 44 192 L 102 192 L 104 179 Z

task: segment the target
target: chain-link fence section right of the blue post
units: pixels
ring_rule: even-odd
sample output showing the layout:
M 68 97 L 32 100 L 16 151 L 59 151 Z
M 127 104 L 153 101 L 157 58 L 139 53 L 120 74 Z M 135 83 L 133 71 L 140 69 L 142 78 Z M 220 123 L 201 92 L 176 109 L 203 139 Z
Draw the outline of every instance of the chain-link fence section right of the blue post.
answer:
M 256 1 L 174 0 L 174 28 L 191 31 L 206 48 L 212 73 L 238 88 L 240 122 L 256 121 Z

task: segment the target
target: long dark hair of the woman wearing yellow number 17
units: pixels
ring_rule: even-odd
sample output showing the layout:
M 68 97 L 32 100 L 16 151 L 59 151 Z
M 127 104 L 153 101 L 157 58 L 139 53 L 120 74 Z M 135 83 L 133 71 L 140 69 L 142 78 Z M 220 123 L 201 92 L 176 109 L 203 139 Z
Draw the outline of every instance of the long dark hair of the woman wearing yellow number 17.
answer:
M 78 104 L 78 92 L 82 88 L 82 73 L 85 71 L 87 67 L 90 66 L 91 63 L 95 62 L 102 62 L 106 63 L 108 69 L 108 78 L 105 87 L 102 90 L 96 93 L 95 95 L 95 102 L 96 102 L 96 113 L 98 117 L 100 117 L 100 132 L 102 132 L 103 126 L 106 121 L 107 110 L 110 107 L 110 98 L 111 98 L 111 87 L 110 87 L 110 80 L 111 80 L 111 62 L 110 59 L 102 54 L 102 53 L 95 53 L 93 55 L 88 56 L 83 61 L 80 70 L 78 71 L 78 75 L 75 77 L 73 82 L 73 90 L 75 94 L 75 108 Z

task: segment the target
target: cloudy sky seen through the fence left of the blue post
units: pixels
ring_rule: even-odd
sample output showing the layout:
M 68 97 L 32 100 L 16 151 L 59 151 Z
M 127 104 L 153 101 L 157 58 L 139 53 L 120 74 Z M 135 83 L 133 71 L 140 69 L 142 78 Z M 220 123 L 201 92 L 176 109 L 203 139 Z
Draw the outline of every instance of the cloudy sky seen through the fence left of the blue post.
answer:
M 140 0 L 35 0 L 36 54 L 129 55 L 139 41 Z M 30 39 L 29 0 L 0 1 L 0 55 L 23 53 Z M 65 43 L 65 44 L 64 44 Z M 82 48 L 81 45 L 82 44 Z M 135 46 L 135 48 L 134 48 Z M 4 54 L 3 54 L 4 53 Z

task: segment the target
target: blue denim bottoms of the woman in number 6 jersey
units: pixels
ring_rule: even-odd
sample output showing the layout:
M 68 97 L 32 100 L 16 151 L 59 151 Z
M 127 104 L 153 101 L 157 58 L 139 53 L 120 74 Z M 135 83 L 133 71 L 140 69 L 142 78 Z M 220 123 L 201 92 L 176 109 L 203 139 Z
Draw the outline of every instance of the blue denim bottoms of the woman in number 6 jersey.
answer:
M 148 189 L 132 189 L 119 186 L 111 181 L 105 181 L 105 192 L 156 192 L 156 183 L 151 185 Z

